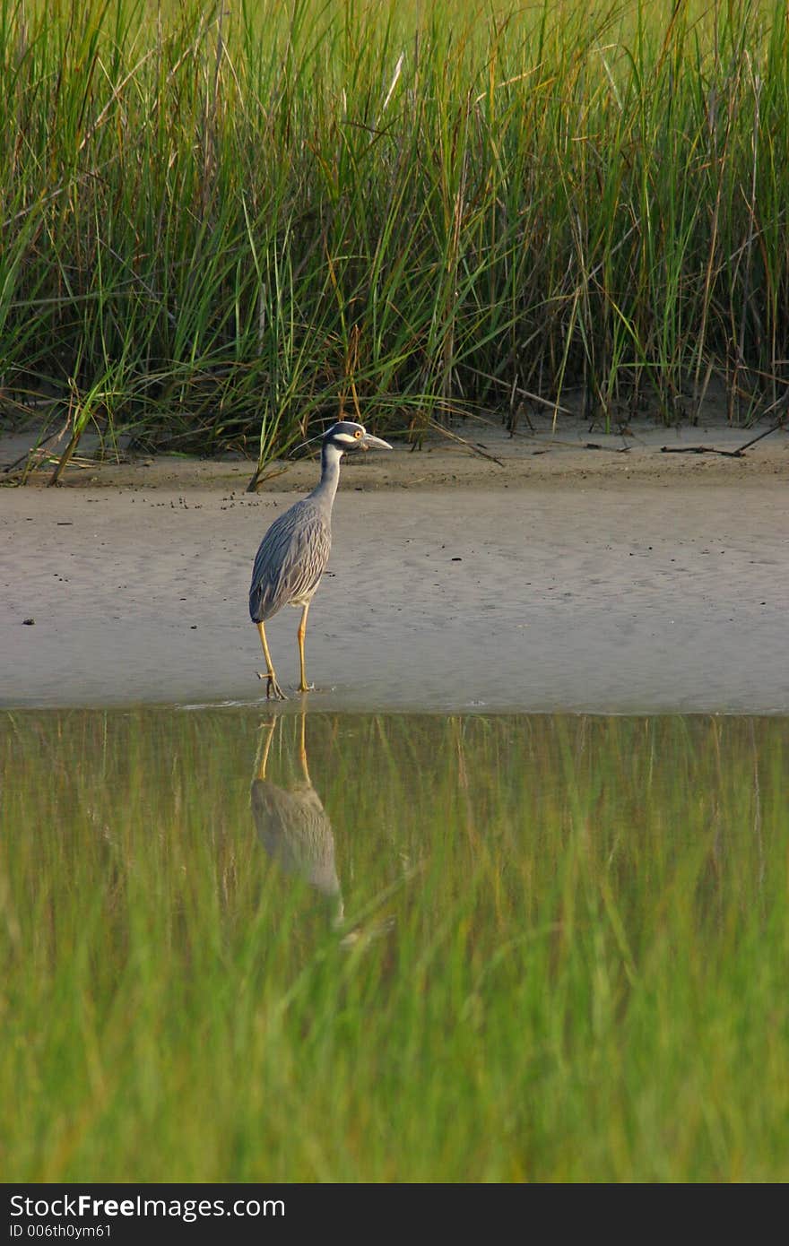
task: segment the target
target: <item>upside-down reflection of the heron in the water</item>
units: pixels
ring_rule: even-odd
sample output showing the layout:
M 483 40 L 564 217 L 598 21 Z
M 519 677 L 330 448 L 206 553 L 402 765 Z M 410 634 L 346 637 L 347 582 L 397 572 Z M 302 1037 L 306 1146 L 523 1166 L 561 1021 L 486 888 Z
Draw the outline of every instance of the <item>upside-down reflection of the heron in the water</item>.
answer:
M 292 721 L 289 715 L 278 714 L 263 728 L 251 792 L 254 825 L 267 855 L 284 873 L 302 878 L 327 898 L 332 906 L 332 926 L 339 930 L 343 927 L 345 907 L 334 861 L 334 832 L 309 776 L 305 713 L 299 715 L 300 779 L 295 779 L 288 787 L 280 787 L 267 779 L 274 733 L 279 729 L 282 738 L 285 724 Z M 380 938 L 393 926 L 391 917 L 378 917 L 364 925 L 351 926 L 343 934 L 340 946 L 350 948 L 360 939 L 369 942 Z

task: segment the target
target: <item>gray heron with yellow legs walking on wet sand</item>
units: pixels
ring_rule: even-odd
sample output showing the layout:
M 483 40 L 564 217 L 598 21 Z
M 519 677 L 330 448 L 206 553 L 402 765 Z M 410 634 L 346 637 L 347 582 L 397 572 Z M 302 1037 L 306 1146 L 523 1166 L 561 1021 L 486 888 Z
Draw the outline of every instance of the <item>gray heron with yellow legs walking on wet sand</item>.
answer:
M 332 506 L 340 476 L 340 459 L 348 450 L 391 450 L 388 441 L 373 437 L 360 424 L 340 420 L 323 436 L 320 483 L 300 502 L 274 520 L 261 541 L 249 588 L 249 616 L 257 623 L 265 655 L 265 695 L 287 700 L 277 682 L 265 639 L 265 619 L 283 606 L 300 606 L 298 629 L 302 682 L 299 692 L 310 690 L 304 674 L 304 633 L 309 603 L 320 583 L 332 548 Z

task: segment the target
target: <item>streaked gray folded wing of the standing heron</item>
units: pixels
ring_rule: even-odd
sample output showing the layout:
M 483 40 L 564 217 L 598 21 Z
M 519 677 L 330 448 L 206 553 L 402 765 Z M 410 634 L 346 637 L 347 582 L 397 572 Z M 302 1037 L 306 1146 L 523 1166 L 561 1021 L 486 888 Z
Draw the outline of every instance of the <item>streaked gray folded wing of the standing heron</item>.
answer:
M 274 520 L 254 559 L 249 588 L 252 621 L 259 623 L 289 602 L 309 598 L 323 576 L 330 548 L 332 530 L 307 500 Z

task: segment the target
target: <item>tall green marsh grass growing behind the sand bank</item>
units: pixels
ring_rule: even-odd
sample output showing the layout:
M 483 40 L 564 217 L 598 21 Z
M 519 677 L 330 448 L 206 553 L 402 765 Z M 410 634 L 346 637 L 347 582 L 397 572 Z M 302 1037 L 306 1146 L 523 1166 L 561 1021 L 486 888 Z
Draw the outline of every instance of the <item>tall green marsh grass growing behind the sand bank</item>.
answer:
M 0 0 L 4 411 L 261 465 L 338 402 L 745 420 L 788 132 L 778 0 Z

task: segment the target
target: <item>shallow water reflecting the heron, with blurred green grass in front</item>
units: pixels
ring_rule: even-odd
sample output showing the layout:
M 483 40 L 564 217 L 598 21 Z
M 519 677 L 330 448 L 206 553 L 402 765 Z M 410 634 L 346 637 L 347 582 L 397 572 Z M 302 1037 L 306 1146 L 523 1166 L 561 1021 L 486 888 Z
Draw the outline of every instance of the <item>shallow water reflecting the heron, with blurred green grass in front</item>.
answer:
M 4 713 L 7 1177 L 788 1176 L 788 766 L 780 718 Z

